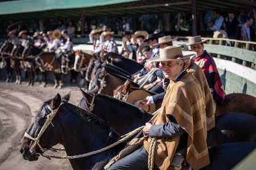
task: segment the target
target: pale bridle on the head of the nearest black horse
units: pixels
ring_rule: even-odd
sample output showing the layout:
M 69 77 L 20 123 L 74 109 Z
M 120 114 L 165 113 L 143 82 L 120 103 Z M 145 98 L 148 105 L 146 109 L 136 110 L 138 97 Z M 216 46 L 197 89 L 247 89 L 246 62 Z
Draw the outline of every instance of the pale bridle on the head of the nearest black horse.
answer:
M 59 105 L 59 107 L 61 107 L 63 103 L 61 103 Z M 41 147 L 40 145 L 40 137 L 43 135 L 43 133 L 45 132 L 45 130 L 47 129 L 47 127 L 49 126 L 49 124 L 51 124 L 53 127 L 53 123 L 51 122 L 54 118 L 54 116 L 56 115 L 56 113 L 58 112 L 59 110 L 59 107 L 56 108 L 56 109 L 52 109 L 51 107 L 49 107 L 49 105 L 47 105 L 48 109 L 51 111 L 51 113 L 49 113 L 49 115 L 47 115 L 47 118 L 46 118 L 46 121 L 45 123 L 43 124 L 43 126 L 41 127 L 41 130 L 40 132 L 38 133 L 37 137 L 32 137 L 30 136 L 30 134 L 28 134 L 27 131 L 25 131 L 25 134 L 23 137 L 27 137 L 28 139 L 30 140 L 33 140 L 34 141 L 34 144 L 32 145 L 32 147 L 30 148 L 30 153 L 32 155 L 38 155 L 38 153 L 35 151 L 35 147 L 36 145 L 38 145 L 38 147 L 40 148 L 41 152 L 46 152 L 46 150 L 48 150 L 47 148 L 43 148 Z

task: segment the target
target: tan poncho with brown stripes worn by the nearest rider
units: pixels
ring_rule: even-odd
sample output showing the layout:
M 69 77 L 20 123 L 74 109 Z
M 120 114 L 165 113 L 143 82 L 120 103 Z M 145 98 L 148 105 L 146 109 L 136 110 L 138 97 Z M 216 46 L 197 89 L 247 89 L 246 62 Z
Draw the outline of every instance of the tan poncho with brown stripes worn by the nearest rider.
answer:
M 207 120 L 205 116 L 205 95 L 197 79 L 191 73 L 180 81 L 170 81 L 164 95 L 161 111 L 152 124 L 163 124 L 174 116 L 177 124 L 188 134 L 187 162 L 193 169 L 200 169 L 210 163 L 207 148 Z M 144 147 L 149 151 L 151 137 L 144 140 Z M 154 163 L 160 169 L 168 169 L 179 144 L 179 136 L 157 140 Z

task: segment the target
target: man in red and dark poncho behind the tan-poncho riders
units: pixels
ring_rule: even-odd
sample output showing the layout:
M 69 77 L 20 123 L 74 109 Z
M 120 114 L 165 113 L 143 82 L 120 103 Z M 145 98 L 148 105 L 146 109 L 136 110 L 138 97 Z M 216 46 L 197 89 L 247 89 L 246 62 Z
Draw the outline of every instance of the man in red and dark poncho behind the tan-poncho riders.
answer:
M 197 65 L 202 68 L 203 73 L 205 73 L 214 101 L 221 104 L 225 97 L 223 83 L 213 57 L 211 57 L 207 51 L 203 50 L 203 42 L 205 41 L 207 41 L 207 39 L 202 40 L 201 36 L 194 36 L 189 38 L 189 44 L 187 44 L 187 46 L 190 46 L 190 49 L 196 52 L 192 60 L 197 63 Z

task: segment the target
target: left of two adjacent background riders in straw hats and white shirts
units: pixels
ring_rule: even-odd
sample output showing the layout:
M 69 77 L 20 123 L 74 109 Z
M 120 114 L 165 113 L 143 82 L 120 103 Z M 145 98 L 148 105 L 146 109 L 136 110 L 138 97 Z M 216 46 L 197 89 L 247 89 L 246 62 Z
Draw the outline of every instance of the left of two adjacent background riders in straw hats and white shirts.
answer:
M 93 54 L 96 57 L 100 56 L 100 53 L 103 51 L 103 42 L 100 41 L 100 30 L 92 30 L 89 34 L 90 41 L 93 42 Z

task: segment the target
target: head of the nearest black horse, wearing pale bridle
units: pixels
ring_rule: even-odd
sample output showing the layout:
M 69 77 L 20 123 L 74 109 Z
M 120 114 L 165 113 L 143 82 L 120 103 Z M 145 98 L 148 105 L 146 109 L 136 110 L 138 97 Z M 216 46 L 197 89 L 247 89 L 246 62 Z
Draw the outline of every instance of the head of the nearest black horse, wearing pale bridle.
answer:
M 28 161 L 38 160 L 38 156 L 60 143 L 58 136 L 58 124 L 53 123 L 54 116 L 58 113 L 61 103 L 68 102 L 70 93 L 61 98 L 57 94 L 41 105 L 35 120 L 25 131 L 22 139 L 20 153 L 23 159 Z

